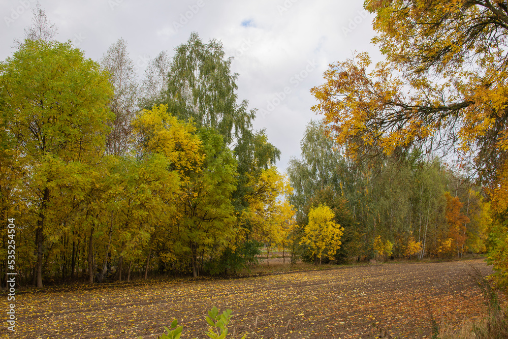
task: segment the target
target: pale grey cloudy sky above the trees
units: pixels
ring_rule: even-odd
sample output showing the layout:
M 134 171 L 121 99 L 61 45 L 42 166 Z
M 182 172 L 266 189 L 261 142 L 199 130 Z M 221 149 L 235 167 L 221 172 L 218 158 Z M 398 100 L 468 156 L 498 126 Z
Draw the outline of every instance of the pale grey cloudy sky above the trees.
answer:
M 0 59 L 12 55 L 14 39 L 23 39 L 36 0 L 3 0 L 0 5 Z M 363 1 L 347 0 L 40 0 L 58 27 L 59 41 L 71 40 L 99 61 L 123 38 L 141 80 L 147 60 L 174 48 L 197 32 L 204 42 L 220 40 L 234 56 L 239 99 L 257 108 L 256 130 L 266 129 L 278 147 L 283 172 L 300 157 L 300 140 L 315 103 L 310 88 L 323 82 L 330 63 L 369 51 L 379 59 L 373 16 Z

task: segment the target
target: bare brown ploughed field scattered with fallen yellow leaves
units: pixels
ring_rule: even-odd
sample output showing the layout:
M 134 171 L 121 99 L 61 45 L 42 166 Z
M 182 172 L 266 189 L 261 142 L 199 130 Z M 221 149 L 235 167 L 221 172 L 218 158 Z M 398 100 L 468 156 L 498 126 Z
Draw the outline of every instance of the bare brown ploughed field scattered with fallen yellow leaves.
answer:
M 212 306 L 233 310 L 239 338 L 430 337 L 431 319 L 459 325 L 484 312 L 471 265 L 389 263 L 242 279 L 168 280 L 16 294 L 16 332 L 8 338 L 156 338 L 173 319 L 182 339 L 206 338 Z M 7 310 L 7 296 L 0 305 Z M 230 337 L 228 335 L 228 337 Z

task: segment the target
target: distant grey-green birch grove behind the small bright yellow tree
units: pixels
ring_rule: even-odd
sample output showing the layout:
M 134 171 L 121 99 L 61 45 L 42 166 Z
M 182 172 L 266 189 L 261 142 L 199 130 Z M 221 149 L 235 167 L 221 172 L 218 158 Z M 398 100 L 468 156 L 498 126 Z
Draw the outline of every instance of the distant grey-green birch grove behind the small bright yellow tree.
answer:
M 468 195 L 470 181 L 452 173 L 439 160 L 423 158 L 421 151 L 413 149 L 404 159 L 374 157 L 357 163 L 344 157 L 344 148 L 327 138 L 325 128 L 316 122 L 307 126 L 301 145 L 303 159 L 292 159 L 288 168 L 295 188 L 290 201 L 298 210 L 297 224 L 308 224 L 311 207 L 320 203 L 330 206 L 335 222 L 344 228 L 337 260 L 373 258 L 378 255 L 373 248 L 378 236 L 383 239 L 379 245 L 392 245 L 391 255 L 395 257 L 408 255 L 410 238 L 420 243 L 420 251 L 413 253 L 420 258 L 453 254 L 443 246 L 450 229 L 445 215 L 446 190 L 453 190 L 464 204 L 461 213 L 471 218 L 475 215 L 475 222 L 465 225 L 466 243 L 459 246 L 458 255 L 482 251 L 489 206 L 481 195 Z M 302 233 L 300 230 L 300 236 Z

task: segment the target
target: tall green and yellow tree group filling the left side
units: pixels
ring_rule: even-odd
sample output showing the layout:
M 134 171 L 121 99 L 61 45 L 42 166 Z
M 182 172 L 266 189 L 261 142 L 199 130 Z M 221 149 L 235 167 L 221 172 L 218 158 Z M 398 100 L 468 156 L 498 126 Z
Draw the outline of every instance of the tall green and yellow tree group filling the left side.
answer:
M 36 12 L 30 32 L 49 27 Z M 124 40 L 98 63 L 53 36 L 0 64 L 2 279 L 14 237 L 37 287 L 234 271 L 280 241 L 294 214 L 280 151 L 252 129 L 220 42 L 192 34 L 139 83 Z

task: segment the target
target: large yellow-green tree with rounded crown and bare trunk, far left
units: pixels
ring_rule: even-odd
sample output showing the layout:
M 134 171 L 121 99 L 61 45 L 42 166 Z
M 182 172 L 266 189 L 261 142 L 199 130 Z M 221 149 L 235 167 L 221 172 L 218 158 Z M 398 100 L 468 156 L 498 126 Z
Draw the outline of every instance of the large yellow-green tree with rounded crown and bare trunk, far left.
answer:
M 0 90 L 6 128 L 24 154 L 25 168 L 37 169 L 24 175 L 37 192 L 37 286 L 42 287 L 43 242 L 55 189 L 73 184 L 80 164 L 93 164 L 104 146 L 112 90 L 107 75 L 82 51 L 42 40 L 26 40 L 0 65 Z

